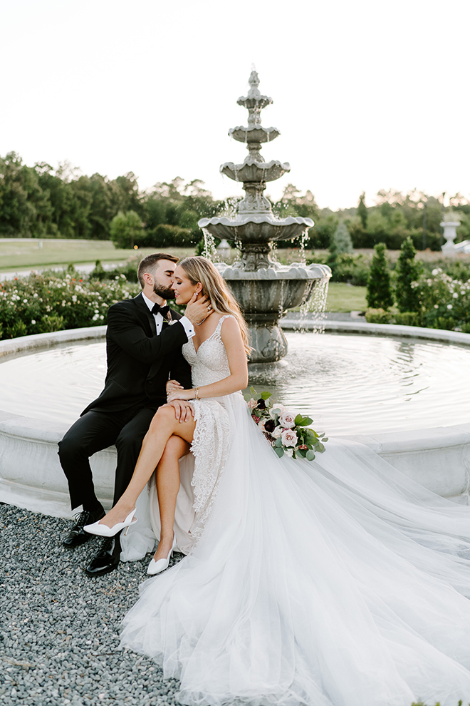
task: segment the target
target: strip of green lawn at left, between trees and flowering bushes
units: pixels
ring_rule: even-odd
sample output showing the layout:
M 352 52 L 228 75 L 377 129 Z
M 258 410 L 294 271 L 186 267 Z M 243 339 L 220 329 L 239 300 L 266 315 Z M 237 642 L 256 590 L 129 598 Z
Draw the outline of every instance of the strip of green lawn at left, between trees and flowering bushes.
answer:
M 42 247 L 40 247 L 42 243 Z M 194 249 L 182 247 L 166 248 L 178 257 L 192 255 Z M 148 255 L 155 247 L 139 250 L 117 250 L 110 240 L 9 240 L 0 238 L 0 272 L 57 265 L 83 265 L 86 262 L 125 262 L 131 255 Z

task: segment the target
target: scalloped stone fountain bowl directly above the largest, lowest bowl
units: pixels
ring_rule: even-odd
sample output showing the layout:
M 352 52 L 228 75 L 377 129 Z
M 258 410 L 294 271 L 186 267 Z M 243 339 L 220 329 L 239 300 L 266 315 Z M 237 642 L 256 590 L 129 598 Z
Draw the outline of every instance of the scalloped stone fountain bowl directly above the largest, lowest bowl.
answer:
M 311 218 L 276 218 L 273 213 L 237 215 L 236 218 L 202 218 L 198 224 L 219 238 L 241 242 L 268 243 L 269 240 L 293 240 L 313 226 Z

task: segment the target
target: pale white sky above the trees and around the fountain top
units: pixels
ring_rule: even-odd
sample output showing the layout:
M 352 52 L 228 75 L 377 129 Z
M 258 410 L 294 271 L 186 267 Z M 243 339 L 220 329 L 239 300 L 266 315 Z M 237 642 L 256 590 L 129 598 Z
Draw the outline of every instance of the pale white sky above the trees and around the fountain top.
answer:
M 0 0 L 0 155 L 179 175 L 241 195 L 229 128 L 254 63 L 266 160 L 321 207 L 381 188 L 470 197 L 468 0 Z

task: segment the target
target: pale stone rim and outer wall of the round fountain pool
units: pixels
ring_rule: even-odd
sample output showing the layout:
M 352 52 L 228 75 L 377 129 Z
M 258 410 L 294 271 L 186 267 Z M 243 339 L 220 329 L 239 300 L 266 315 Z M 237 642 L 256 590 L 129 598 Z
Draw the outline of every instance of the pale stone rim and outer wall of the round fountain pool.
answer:
M 286 317 L 281 323 L 284 329 L 299 327 L 298 319 Z M 442 340 L 470 346 L 470 334 L 441 329 L 312 320 L 304 322 L 306 324 L 304 327 L 318 327 L 319 323 L 323 324 L 325 329 L 335 332 L 385 334 Z M 1 341 L 0 360 L 7 354 L 27 354 L 55 344 L 103 339 L 105 330 L 105 326 L 87 327 Z M 0 441 L 4 449 L 0 474 L 0 501 L 33 512 L 71 517 L 66 479 L 58 463 L 56 446 L 64 431 L 66 431 L 66 425 L 61 426 L 51 421 L 32 419 L 0 410 Z M 470 424 L 379 432 L 370 435 L 343 435 L 335 438 L 357 441 L 369 446 L 382 458 L 407 473 L 409 477 L 443 496 L 466 501 L 469 495 L 466 459 L 470 454 Z M 23 464 L 22 469 L 21 464 Z M 92 465 L 100 499 L 106 507 L 110 507 L 115 468 L 114 447 L 95 454 Z M 449 471 L 442 474 L 442 468 Z

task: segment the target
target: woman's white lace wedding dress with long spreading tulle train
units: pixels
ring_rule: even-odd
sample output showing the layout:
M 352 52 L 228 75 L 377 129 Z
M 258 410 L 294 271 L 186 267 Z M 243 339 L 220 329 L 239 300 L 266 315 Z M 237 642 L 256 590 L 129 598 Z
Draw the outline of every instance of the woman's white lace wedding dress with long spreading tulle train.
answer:
M 222 322 L 183 348 L 196 385 L 229 374 Z M 122 643 L 179 677 L 189 705 L 468 703 L 470 508 L 361 444 L 279 459 L 241 393 L 194 405 L 189 556 L 142 584 Z M 144 505 L 127 558 L 152 548 Z

